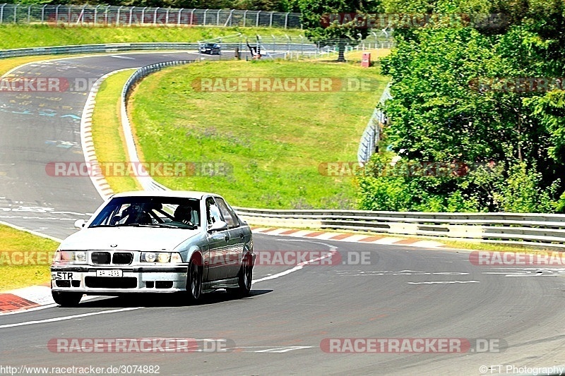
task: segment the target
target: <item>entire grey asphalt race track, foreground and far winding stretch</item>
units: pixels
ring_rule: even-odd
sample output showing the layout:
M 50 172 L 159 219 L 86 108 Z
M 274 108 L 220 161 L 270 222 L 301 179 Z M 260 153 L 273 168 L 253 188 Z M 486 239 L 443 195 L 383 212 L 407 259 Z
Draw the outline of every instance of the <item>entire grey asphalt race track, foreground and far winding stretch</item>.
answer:
M 20 74 L 97 78 L 171 59 L 187 54 L 64 59 L 32 64 Z M 64 237 L 101 199 L 89 178 L 45 172 L 48 162 L 83 161 L 77 119 L 86 95 L 51 94 L 0 94 L 0 220 Z M 197 306 L 179 296 L 94 298 L 78 308 L 0 315 L 0 365 L 153 365 L 160 375 L 497 375 L 507 366 L 565 363 L 564 269 L 478 267 L 465 251 L 400 245 L 261 234 L 254 244 L 259 253 L 304 251 L 333 262 L 258 265 L 251 296 L 243 299 L 223 291 Z M 61 338 L 225 339 L 230 346 L 189 353 L 54 352 L 49 344 Z M 351 348 L 335 345 L 345 344 L 340 339 L 458 339 L 471 348 L 398 353 L 357 346 L 358 353 L 343 353 Z M 492 346 L 476 346 L 484 343 Z

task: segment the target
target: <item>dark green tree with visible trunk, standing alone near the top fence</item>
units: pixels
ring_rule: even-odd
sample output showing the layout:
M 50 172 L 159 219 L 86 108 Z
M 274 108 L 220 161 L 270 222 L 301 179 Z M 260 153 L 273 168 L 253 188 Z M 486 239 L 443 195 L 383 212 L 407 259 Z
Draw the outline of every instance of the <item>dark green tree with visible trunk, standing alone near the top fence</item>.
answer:
M 381 9 L 378 0 L 298 0 L 304 34 L 322 46 L 338 46 L 338 61 L 345 61 L 347 44 L 367 37 L 369 12 Z

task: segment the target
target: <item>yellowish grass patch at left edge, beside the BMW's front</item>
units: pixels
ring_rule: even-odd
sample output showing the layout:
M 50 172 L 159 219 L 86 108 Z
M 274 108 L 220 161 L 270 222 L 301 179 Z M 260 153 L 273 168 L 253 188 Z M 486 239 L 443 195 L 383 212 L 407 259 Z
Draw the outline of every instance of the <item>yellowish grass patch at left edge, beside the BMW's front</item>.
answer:
M 18 289 L 34 284 L 47 284 L 50 279 L 49 265 L 51 258 L 47 259 L 47 265 L 6 265 L 6 260 L 10 260 L 9 257 L 6 258 L 9 251 L 40 251 L 44 255 L 45 251 L 54 253 L 58 245 L 59 243 L 56 241 L 0 225 L 0 252 L 3 253 L 0 260 L 4 260 L 0 264 L 2 275 L 0 291 Z

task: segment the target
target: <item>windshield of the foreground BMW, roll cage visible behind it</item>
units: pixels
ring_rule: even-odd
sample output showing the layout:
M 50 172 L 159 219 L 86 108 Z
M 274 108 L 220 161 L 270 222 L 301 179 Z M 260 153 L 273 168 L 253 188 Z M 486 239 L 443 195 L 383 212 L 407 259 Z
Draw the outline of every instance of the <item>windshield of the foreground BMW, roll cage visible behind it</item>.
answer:
M 113 198 L 89 227 L 147 226 L 196 229 L 200 200 L 165 197 Z

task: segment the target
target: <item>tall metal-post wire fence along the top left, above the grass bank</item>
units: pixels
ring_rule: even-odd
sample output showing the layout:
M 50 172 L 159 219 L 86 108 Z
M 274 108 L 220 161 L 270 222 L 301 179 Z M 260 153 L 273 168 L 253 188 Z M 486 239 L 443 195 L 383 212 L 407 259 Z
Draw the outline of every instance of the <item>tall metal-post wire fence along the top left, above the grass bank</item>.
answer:
M 237 9 L 147 6 L 0 4 L 0 24 L 49 23 L 81 26 L 242 26 L 301 28 L 300 14 Z

